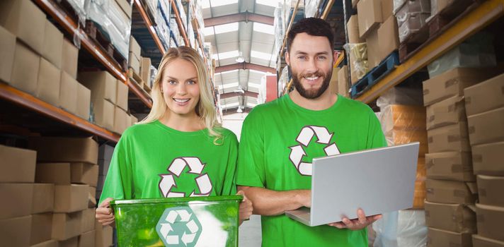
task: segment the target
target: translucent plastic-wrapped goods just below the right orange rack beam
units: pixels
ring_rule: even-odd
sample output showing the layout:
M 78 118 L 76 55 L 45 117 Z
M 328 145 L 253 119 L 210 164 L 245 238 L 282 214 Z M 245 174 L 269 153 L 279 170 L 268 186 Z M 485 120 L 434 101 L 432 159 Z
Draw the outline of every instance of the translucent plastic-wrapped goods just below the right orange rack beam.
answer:
M 480 32 L 454 47 L 427 66 L 430 78 L 452 68 L 480 68 L 496 66 L 493 35 Z

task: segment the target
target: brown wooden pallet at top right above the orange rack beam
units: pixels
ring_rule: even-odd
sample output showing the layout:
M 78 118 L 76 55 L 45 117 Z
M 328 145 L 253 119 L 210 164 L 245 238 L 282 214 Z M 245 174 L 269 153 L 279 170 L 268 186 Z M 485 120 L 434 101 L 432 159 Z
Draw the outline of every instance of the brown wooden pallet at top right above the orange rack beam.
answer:
M 435 39 L 444 32 L 452 23 L 456 23 L 464 13 L 476 7 L 481 0 L 454 0 L 452 4 L 443 8 L 440 13 L 431 17 L 420 30 L 406 37 L 399 45 L 399 61 L 403 63 L 430 40 Z

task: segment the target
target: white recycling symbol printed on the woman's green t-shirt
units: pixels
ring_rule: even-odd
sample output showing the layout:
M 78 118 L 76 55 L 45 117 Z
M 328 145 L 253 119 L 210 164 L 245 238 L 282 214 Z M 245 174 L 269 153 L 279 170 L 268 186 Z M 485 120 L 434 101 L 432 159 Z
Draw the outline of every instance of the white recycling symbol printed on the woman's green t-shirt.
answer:
M 175 177 L 180 177 L 186 166 L 189 167 L 188 173 L 200 175 L 195 179 L 195 183 L 200 189 L 200 193 L 196 193 L 194 190 L 189 196 L 210 195 L 210 192 L 212 192 L 212 182 L 210 181 L 210 177 L 207 173 L 202 174 L 205 164 L 202 164 L 201 160 L 197 157 L 178 157 L 173 159 L 173 162 L 171 162 L 168 166 L 168 171 L 170 171 L 171 174 L 159 174 L 159 176 L 161 176 L 161 181 L 159 181 L 159 190 L 161 190 L 164 197 L 185 197 L 185 193 L 173 192 L 171 190 L 173 187 L 177 186 Z

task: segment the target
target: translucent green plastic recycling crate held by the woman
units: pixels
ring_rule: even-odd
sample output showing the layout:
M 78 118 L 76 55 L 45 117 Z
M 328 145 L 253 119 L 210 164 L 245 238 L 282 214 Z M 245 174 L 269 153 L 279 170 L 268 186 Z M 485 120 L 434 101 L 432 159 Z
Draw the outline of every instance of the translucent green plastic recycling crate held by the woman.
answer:
M 238 246 L 241 195 L 114 200 L 118 246 Z

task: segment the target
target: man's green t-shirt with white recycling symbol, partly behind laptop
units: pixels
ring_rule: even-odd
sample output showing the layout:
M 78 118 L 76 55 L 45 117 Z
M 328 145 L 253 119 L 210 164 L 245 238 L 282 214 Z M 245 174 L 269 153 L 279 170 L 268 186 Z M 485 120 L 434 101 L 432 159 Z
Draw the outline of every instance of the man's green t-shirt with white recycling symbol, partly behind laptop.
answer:
M 314 157 L 384 146 L 379 121 L 366 104 L 338 95 L 332 107 L 312 111 L 285 95 L 258 105 L 246 117 L 236 184 L 273 191 L 310 189 Z M 307 227 L 285 215 L 261 218 L 263 246 L 367 246 L 365 229 Z

